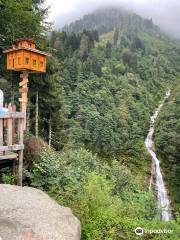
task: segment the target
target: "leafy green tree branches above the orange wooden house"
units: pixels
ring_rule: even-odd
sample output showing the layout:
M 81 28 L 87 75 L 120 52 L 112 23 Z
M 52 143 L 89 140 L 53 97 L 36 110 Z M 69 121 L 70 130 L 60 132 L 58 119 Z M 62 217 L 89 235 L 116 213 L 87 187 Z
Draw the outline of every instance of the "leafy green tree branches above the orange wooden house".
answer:
M 3 8 L 0 11 L 0 47 L 11 45 L 20 37 L 41 39 L 47 30 L 44 18 L 47 8 L 42 3 L 32 0 L 14 1 L 1 0 Z M 43 23 L 43 24 L 42 24 Z

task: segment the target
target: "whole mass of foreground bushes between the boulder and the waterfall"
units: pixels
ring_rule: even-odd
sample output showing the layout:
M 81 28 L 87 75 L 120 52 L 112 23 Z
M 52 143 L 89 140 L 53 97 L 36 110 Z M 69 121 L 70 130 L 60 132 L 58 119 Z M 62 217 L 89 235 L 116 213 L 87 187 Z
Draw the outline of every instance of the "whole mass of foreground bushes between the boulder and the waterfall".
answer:
M 130 239 L 136 224 L 157 213 L 153 194 L 141 190 L 126 167 L 105 164 L 85 149 L 44 149 L 26 175 L 32 186 L 73 209 L 82 239 Z

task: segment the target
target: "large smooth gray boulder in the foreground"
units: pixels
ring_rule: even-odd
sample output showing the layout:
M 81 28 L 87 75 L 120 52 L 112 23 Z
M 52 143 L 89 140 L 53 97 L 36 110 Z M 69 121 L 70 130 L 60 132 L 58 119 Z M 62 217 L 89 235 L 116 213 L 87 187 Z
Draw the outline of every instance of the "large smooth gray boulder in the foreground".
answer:
M 80 222 L 40 190 L 0 184 L 0 240 L 80 240 Z

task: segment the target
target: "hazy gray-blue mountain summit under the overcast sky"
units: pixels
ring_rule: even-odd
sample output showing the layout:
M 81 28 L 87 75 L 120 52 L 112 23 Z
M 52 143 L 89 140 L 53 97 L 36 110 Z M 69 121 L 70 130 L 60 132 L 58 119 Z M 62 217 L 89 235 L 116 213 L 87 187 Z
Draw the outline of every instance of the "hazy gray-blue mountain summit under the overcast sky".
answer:
M 110 7 L 85 15 L 82 19 L 65 26 L 63 30 L 76 33 L 82 32 L 84 29 L 97 30 L 102 34 L 110 32 L 114 28 L 159 32 L 159 28 L 153 24 L 152 19 L 143 19 L 139 15 L 128 12 L 123 8 Z

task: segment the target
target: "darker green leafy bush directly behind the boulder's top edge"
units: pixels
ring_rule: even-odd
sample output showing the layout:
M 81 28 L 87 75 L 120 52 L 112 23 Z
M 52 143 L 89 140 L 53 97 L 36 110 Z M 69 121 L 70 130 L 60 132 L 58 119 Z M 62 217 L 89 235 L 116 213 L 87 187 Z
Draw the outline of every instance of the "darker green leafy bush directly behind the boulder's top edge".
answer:
M 66 191 L 66 188 L 77 191 L 82 187 L 87 174 L 92 171 L 99 172 L 99 169 L 96 156 L 85 149 L 69 149 L 58 153 L 44 148 L 26 175 L 32 186 L 46 191 Z

